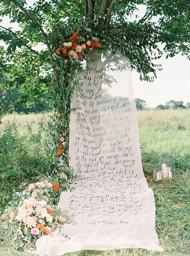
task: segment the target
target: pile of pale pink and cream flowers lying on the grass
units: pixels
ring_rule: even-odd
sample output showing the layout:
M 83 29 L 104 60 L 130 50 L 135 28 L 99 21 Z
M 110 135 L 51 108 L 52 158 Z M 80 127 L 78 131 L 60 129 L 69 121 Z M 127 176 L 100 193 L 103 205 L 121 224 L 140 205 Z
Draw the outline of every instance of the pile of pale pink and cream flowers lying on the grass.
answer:
M 31 183 L 22 192 L 14 192 L 13 200 L 0 217 L 1 232 L 13 231 L 13 239 L 20 241 L 20 248 L 35 249 L 35 241 L 53 231 L 60 232 L 69 217 L 52 204 L 61 185 L 48 180 Z M 66 235 L 63 234 L 65 237 Z

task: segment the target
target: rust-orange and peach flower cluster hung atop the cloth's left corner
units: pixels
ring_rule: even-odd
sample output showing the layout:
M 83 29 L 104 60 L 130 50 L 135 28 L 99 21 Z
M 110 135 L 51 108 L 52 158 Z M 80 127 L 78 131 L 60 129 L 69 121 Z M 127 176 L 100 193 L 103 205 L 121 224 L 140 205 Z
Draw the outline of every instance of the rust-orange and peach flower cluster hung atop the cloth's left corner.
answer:
M 63 43 L 56 49 L 56 54 L 62 56 L 65 63 L 69 61 L 69 58 L 82 61 L 85 59 L 85 54 L 94 47 L 101 48 L 101 44 L 98 39 L 95 41 L 87 40 L 78 36 L 78 30 L 70 37 L 70 42 Z M 70 76 L 70 74 L 67 74 Z

